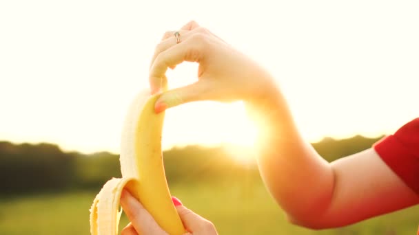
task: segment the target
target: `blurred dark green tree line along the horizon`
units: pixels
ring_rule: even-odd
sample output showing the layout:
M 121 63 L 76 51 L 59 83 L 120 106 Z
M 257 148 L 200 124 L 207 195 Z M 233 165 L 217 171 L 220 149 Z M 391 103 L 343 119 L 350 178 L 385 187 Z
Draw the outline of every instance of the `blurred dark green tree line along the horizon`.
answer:
M 371 148 L 378 138 L 360 135 L 325 138 L 312 145 L 327 161 Z M 243 164 L 228 146 L 185 146 L 163 152 L 169 183 L 251 179 L 259 175 L 254 159 Z M 99 190 L 112 177 L 121 177 L 119 155 L 65 153 L 54 144 L 0 142 L 0 194 L 27 194 L 62 190 Z

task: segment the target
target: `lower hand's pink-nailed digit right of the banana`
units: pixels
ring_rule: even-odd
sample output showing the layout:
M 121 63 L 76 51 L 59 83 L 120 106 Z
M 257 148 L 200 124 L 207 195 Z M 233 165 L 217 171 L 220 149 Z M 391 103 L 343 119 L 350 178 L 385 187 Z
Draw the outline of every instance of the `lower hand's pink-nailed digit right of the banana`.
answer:
M 183 205 L 176 206 L 176 210 L 181 217 L 183 226 L 192 234 L 216 234 L 214 225 L 207 219 L 185 208 Z

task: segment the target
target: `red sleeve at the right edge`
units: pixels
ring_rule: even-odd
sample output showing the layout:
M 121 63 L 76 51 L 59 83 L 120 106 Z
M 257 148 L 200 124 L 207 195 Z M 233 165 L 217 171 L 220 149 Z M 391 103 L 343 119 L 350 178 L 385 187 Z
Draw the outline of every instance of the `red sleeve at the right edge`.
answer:
M 413 191 L 419 194 L 419 118 L 382 138 L 374 149 Z

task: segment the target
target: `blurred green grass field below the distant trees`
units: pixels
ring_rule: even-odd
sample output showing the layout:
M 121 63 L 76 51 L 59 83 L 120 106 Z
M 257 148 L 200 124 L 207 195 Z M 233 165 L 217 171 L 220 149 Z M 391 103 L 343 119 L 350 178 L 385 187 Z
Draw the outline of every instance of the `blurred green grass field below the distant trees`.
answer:
M 212 221 L 219 234 L 416 234 L 418 206 L 356 225 L 314 231 L 288 223 L 260 183 L 171 186 L 173 195 Z M 0 234 L 89 234 L 89 208 L 97 192 L 0 198 Z M 123 216 L 121 226 L 127 224 Z

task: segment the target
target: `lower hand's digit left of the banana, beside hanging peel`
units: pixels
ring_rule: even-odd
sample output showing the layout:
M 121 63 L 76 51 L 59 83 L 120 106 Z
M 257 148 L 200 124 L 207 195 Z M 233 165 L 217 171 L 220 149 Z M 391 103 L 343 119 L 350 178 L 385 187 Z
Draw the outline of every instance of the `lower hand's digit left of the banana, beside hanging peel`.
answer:
M 127 190 L 121 194 L 121 205 L 132 226 L 139 234 L 166 234 L 153 217 Z

